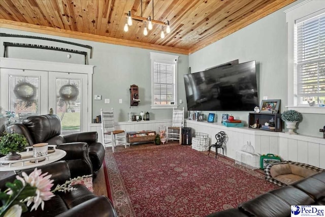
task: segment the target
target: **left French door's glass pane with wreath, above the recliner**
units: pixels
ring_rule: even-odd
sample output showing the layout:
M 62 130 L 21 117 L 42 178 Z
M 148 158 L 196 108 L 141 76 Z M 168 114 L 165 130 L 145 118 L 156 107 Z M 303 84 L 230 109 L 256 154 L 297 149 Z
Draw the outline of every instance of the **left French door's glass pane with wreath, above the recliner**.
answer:
M 10 111 L 14 111 L 19 120 L 27 116 L 39 115 L 40 78 L 10 76 Z

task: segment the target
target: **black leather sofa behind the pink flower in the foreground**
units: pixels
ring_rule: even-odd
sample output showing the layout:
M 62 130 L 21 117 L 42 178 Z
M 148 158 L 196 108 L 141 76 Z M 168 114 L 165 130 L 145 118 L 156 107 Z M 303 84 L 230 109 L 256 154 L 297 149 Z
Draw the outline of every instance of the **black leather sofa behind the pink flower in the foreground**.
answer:
M 72 165 L 72 167 L 75 165 Z M 54 180 L 55 188 L 57 184 L 62 184 L 70 178 L 71 170 L 66 161 L 58 161 L 52 164 L 41 166 L 38 169 L 42 170 L 42 173 L 48 172 L 51 174 L 51 179 Z M 34 169 L 25 170 L 27 174 L 31 173 Z M 16 175 L 9 176 L 0 180 L 0 189 L 4 191 L 6 182 L 13 182 L 16 179 Z M 44 210 L 41 206 L 37 210 L 26 211 L 22 213 L 23 217 L 29 216 L 92 216 L 92 217 L 115 217 L 117 216 L 113 204 L 106 196 L 96 196 L 92 194 L 84 185 L 73 185 L 76 190 L 67 193 L 57 193 L 50 200 L 45 201 Z M 0 201 L 0 206 L 2 206 Z M 31 208 L 31 205 L 29 209 Z

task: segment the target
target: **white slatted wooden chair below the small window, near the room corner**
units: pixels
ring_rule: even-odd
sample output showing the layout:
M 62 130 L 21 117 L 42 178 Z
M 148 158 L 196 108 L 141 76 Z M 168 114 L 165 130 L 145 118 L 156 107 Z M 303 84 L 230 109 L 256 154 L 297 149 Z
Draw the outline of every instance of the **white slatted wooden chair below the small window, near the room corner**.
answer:
M 167 127 L 167 143 L 168 140 L 179 140 L 179 144 L 182 143 L 182 127 L 184 127 L 184 107 L 183 110 L 173 109 L 172 127 Z

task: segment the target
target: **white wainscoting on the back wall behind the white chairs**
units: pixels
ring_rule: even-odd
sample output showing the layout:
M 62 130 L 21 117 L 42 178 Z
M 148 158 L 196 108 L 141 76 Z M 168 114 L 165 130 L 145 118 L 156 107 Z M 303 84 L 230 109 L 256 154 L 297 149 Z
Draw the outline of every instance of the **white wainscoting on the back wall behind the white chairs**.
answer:
M 124 130 L 126 132 L 154 130 L 156 131 L 156 133 L 158 133 L 160 125 L 166 127 L 172 126 L 172 119 L 115 122 L 114 125 L 115 125 L 115 130 Z M 98 133 L 98 142 L 103 143 L 101 128 L 102 128 L 101 123 L 90 123 L 88 127 L 88 131 L 90 132 L 96 131 Z

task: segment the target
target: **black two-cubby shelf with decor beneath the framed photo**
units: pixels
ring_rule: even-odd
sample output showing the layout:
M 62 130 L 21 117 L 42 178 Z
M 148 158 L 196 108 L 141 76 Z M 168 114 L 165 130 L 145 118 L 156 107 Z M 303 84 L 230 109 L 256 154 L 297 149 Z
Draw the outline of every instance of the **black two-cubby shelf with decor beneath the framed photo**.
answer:
M 259 127 L 255 128 L 257 130 L 265 130 L 271 132 L 282 131 L 281 114 L 249 112 L 248 128 L 253 128 L 257 119 L 259 123 Z M 266 122 L 269 123 L 269 126 L 265 125 Z M 274 122 L 274 124 L 272 124 L 272 122 Z

